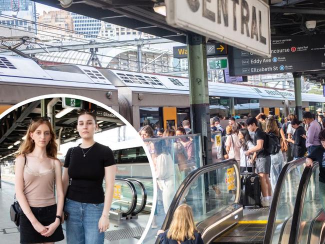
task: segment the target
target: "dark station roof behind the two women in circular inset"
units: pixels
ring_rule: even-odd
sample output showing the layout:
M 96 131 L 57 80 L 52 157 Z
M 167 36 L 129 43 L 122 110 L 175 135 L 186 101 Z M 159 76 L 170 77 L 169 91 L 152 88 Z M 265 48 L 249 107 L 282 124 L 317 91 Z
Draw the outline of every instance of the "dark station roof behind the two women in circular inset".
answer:
M 55 104 L 55 111 L 58 112 L 60 110 L 62 110 L 62 102 L 59 100 Z M 97 106 L 95 110 L 102 111 L 103 109 Z M 99 123 L 99 128 L 101 131 L 124 125 L 124 123 L 117 117 L 100 117 L 98 116 L 98 112 L 96 115 L 97 120 L 102 121 Z M 31 118 L 39 116 L 40 100 L 36 100 L 12 110 L 0 119 L 0 158 L 14 153 L 18 149 L 20 143 L 22 142 L 22 137 L 25 135 L 28 129 Z M 55 118 L 56 138 L 58 138 L 60 134 L 61 144 L 80 138 L 78 132 L 76 131 L 76 122 L 76 110 L 70 111 L 61 118 Z M 59 133 L 60 128 L 62 128 L 62 130 Z M 20 143 L 14 145 L 14 143 L 18 140 L 20 140 Z M 8 148 L 10 145 L 13 145 L 13 147 Z M 13 158 L 13 154 L 6 159 L 10 158 Z

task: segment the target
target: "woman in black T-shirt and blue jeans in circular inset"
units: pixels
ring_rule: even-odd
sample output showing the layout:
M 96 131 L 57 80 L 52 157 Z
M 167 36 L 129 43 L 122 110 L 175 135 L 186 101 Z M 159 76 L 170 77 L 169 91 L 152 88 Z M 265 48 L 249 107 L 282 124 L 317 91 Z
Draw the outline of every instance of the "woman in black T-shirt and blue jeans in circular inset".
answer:
M 82 110 L 77 119 L 82 143 L 67 151 L 62 176 L 66 194 L 64 210 L 69 214 L 66 240 L 69 244 L 102 244 L 104 231 L 109 228 L 115 160 L 108 146 L 93 139 L 98 128 L 95 115 Z M 102 187 L 104 176 L 105 193 Z

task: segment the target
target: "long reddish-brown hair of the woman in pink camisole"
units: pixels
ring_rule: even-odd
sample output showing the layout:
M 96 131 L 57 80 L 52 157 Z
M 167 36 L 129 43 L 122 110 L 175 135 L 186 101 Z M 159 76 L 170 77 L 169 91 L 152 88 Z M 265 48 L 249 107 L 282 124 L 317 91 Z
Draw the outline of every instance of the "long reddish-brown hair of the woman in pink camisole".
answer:
M 32 141 L 29 133 L 33 133 L 39 125 L 41 124 L 46 124 L 47 127 L 49 128 L 49 133 L 51 135 L 51 139 L 48 141 L 47 145 L 46 145 L 46 155 L 50 158 L 56 159 L 56 155 L 57 155 L 57 144 L 55 142 L 55 133 L 54 130 L 51 126 L 51 124 L 49 123 L 49 121 L 47 120 L 43 120 L 43 119 L 39 119 L 37 121 L 33 121 L 30 125 L 29 128 L 27 129 L 26 132 L 26 139 L 21 143 L 21 145 L 19 146 L 18 149 L 18 153 L 17 156 L 20 154 L 26 155 L 30 152 L 32 152 L 35 148 L 35 143 Z

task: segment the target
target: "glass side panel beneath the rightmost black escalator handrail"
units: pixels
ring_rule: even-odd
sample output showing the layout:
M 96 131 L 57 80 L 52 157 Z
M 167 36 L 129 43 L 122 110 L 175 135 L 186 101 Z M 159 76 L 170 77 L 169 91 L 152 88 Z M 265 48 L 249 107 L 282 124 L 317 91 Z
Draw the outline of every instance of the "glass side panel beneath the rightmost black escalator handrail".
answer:
M 302 206 L 302 214 L 298 224 L 298 242 L 300 244 L 307 244 L 309 242 L 310 228 L 314 222 L 315 217 L 322 209 L 319 196 L 319 167 L 315 168 L 311 174 L 308 182 L 306 194 Z

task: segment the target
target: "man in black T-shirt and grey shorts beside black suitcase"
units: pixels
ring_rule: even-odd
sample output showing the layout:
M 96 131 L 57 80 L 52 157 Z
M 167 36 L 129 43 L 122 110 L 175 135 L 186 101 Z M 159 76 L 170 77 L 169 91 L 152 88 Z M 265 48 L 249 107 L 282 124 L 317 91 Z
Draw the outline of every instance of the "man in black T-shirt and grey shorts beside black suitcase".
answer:
M 246 120 L 248 130 L 254 131 L 253 144 L 254 147 L 245 152 L 246 156 L 250 153 L 253 154 L 253 161 L 255 160 L 256 172 L 260 178 L 260 187 L 262 191 L 262 205 L 269 206 L 272 201 L 272 188 L 269 181 L 269 172 L 271 167 L 271 157 L 267 151 L 267 135 L 266 133 L 257 127 L 257 119 L 249 117 Z

